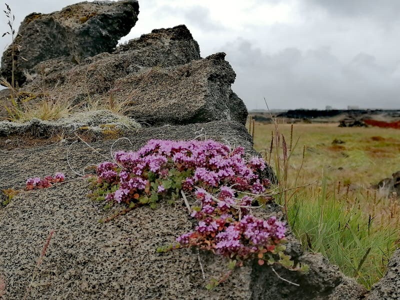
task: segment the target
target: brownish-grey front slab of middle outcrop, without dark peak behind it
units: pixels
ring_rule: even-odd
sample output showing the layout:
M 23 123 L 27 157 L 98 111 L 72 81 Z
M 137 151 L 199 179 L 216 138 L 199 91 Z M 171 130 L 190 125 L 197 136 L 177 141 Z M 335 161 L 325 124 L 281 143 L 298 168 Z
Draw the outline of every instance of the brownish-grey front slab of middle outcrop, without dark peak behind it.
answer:
M 186 46 L 186 41 L 182 43 Z M 151 49 L 145 49 L 146 53 Z M 154 50 L 159 52 L 158 47 Z M 140 54 L 133 53 L 103 53 L 87 58 L 86 65 L 50 73 L 44 80 L 45 93 L 73 105 L 86 105 L 90 99 L 117 105 L 124 114 L 151 125 L 220 119 L 245 123 L 247 109 L 231 90 L 236 74 L 224 60 L 225 53 L 191 61 L 187 60 L 195 55 L 180 56 L 162 63 L 157 55 L 153 67 L 138 65 Z M 183 59 L 186 63 L 180 64 Z M 145 62 L 151 64 L 149 60 Z M 37 80 L 23 88 L 40 93 Z

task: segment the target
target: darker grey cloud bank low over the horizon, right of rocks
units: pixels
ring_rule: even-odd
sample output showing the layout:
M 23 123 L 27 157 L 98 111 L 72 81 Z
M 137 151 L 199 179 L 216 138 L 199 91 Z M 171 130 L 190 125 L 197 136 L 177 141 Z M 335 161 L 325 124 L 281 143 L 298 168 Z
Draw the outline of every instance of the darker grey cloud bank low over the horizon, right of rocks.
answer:
M 243 39 L 223 48 L 237 73 L 234 88 L 249 107 L 263 108 L 266 97 L 274 108 L 400 108 L 398 65 L 378 65 L 372 55 L 359 53 L 342 63 L 329 47 L 267 54 Z

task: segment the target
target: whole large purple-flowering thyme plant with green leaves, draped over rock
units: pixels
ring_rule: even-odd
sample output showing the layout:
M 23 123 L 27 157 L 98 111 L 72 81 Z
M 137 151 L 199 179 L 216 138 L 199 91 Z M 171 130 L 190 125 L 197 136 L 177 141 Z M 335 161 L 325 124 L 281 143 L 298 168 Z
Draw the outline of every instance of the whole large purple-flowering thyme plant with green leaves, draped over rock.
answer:
M 136 152 L 118 151 L 114 161 L 100 163 L 90 196 L 106 201 L 106 207 L 126 203 L 131 208 L 155 207 L 160 198 L 182 196 L 197 225 L 158 252 L 196 246 L 227 257 L 231 269 L 256 258 L 260 265 L 279 263 L 305 271 L 306 266 L 294 266 L 283 253 L 285 222 L 251 214 L 254 206 L 270 200 L 270 182 L 258 174 L 264 168 L 262 158 L 246 160 L 242 147 L 231 150 L 213 140 L 153 139 Z M 195 204 L 190 206 L 187 198 L 196 199 Z M 213 279 L 207 287 L 220 282 Z

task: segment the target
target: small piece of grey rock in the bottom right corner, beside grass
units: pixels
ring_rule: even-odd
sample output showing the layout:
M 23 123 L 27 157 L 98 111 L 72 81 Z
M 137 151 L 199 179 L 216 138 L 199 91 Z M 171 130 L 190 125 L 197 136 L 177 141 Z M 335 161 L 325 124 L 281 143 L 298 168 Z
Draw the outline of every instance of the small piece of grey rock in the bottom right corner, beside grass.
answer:
M 391 256 L 386 275 L 372 286 L 366 299 L 400 299 L 400 249 L 397 249 Z

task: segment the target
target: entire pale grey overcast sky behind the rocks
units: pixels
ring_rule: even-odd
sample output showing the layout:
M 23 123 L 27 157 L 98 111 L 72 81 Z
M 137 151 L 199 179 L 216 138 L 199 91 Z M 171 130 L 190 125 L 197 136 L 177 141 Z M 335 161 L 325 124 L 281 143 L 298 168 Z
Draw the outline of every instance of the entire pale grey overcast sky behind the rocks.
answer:
M 78 0 L 8 0 L 16 24 Z M 139 0 L 121 41 L 186 24 L 201 56 L 224 51 L 249 109 L 400 108 L 400 0 Z M 1 16 L 5 29 L 5 18 Z M 9 37 L 0 40 L 1 49 Z

